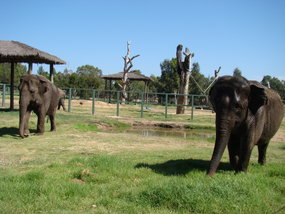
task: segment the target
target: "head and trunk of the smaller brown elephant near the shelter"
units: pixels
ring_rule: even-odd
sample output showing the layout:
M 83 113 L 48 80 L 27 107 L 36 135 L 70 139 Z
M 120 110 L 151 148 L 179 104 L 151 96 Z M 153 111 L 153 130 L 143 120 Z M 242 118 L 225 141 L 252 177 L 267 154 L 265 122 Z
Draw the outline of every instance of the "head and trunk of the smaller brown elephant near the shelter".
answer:
M 36 75 L 24 75 L 20 78 L 20 136 L 28 136 L 28 120 L 30 112 L 43 105 L 43 96 L 49 91 L 49 81 Z M 37 112 L 36 112 L 37 113 Z

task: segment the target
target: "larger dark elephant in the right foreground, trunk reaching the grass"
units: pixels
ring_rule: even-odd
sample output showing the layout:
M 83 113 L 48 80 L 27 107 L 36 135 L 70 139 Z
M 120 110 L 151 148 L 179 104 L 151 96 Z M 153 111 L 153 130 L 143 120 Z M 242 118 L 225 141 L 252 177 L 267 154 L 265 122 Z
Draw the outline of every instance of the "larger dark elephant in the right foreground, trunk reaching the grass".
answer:
M 209 92 L 216 112 L 216 141 L 207 171 L 215 174 L 228 147 L 235 172 L 246 172 L 252 149 L 258 146 L 258 163 L 266 164 L 270 139 L 278 131 L 284 105 L 277 92 L 240 76 L 222 76 Z

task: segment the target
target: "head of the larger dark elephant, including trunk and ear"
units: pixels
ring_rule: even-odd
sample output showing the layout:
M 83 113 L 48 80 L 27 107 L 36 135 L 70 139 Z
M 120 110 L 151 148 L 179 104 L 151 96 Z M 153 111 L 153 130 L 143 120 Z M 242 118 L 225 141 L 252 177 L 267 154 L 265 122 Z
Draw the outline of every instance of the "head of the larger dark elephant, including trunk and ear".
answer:
M 220 163 L 231 134 L 241 132 L 249 115 L 266 104 L 267 97 L 257 82 L 243 77 L 220 77 L 210 90 L 210 102 L 216 112 L 216 142 L 207 175 L 213 175 Z

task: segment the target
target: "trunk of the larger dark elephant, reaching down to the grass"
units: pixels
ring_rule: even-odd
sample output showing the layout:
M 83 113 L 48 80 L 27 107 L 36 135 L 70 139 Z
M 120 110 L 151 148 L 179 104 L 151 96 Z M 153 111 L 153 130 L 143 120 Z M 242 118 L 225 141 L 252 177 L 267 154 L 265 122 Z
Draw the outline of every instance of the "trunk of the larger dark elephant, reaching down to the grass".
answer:
M 220 164 L 221 158 L 231 135 L 231 129 L 229 125 L 229 120 L 218 120 L 216 123 L 216 142 L 210 166 L 207 172 L 208 176 L 214 175 Z

